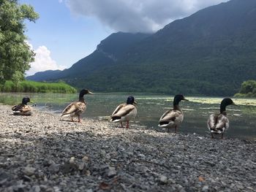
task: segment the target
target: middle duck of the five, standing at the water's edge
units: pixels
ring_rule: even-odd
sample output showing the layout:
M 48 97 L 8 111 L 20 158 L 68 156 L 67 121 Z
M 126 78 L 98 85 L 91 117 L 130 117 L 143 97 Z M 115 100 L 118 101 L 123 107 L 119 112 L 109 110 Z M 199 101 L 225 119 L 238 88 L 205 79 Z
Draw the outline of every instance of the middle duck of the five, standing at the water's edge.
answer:
M 133 119 L 137 115 L 137 109 L 135 107 L 137 102 L 133 96 L 127 98 L 127 103 L 119 104 L 116 110 L 110 116 L 111 122 L 120 122 L 121 128 L 123 128 L 122 122 L 127 121 L 127 128 L 129 128 L 129 120 Z

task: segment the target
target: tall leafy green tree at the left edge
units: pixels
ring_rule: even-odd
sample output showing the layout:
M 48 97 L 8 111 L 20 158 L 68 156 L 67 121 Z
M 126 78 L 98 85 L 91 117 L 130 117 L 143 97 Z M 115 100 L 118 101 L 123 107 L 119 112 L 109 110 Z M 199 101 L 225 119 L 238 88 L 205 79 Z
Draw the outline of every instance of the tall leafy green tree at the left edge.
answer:
M 34 8 L 18 0 L 0 0 L 0 85 L 6 80 L 21 80 L 35 53 L 26 43 L 24 21 L 39 18 Z

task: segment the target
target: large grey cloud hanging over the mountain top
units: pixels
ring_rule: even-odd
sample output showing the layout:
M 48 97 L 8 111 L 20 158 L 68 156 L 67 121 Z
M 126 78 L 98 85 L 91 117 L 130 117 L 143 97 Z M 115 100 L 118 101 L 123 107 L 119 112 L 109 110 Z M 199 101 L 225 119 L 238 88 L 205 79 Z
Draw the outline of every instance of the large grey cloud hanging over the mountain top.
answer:
M 97 18 L 115 31 L 152 32 L 227 0 L 66 0 L 75 15 Z

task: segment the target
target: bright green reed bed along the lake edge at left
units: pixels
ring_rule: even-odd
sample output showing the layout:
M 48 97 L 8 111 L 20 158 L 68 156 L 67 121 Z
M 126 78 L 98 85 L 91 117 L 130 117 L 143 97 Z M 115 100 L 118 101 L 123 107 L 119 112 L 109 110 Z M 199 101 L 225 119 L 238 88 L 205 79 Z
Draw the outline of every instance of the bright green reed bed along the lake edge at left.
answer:
M 17 84 L 10 80 L 1 88 L 3 92 L 29 92 L 29 93 L 76 93 L 77 90 L 64 82 L 34 82 L 21 81 Z

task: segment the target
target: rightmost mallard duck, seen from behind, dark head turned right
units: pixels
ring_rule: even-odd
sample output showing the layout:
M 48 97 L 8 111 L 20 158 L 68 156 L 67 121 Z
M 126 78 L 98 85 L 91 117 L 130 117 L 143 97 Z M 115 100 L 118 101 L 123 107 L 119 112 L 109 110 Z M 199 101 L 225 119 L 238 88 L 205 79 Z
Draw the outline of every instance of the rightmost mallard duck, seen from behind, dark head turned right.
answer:
M 220 113 L 211 114 L 207 120 L 207 126 L 209 131 L 211 131 L 211 138 L 214 138 L 214 134 L 223 134 L 230 126 L 230 122 L 227 119 L 226 107 L 227 105 L 234 104 L 232 99 L 225 98 L 220 104 Z M 236 104 L 235 104 L 236 105 Z

